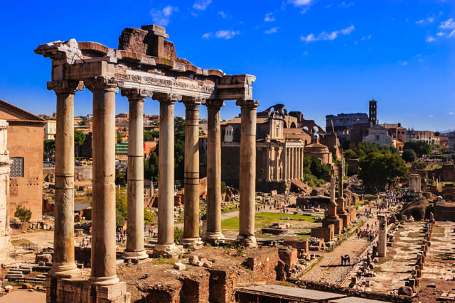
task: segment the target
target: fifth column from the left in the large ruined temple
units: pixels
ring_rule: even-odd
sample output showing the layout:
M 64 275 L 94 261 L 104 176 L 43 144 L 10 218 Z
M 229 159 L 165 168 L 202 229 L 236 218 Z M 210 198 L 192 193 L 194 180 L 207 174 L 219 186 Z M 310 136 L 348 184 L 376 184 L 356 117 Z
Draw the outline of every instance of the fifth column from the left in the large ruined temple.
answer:
M 185 211 L 183 246 L 202 244 L 199 237 L 199 105 L 183 97 L 185 104 Z

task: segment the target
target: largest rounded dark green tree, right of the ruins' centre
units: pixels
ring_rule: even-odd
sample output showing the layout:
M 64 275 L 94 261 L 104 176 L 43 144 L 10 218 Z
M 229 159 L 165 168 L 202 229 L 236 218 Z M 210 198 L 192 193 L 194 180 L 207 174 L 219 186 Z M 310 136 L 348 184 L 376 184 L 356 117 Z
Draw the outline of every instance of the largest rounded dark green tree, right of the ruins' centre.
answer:
M 405 161 L 395 153 L 369 153 L 359 162 L 360 180 L 365 187 L 384 189 L 397 178 L 405 178 L 409 170 Z

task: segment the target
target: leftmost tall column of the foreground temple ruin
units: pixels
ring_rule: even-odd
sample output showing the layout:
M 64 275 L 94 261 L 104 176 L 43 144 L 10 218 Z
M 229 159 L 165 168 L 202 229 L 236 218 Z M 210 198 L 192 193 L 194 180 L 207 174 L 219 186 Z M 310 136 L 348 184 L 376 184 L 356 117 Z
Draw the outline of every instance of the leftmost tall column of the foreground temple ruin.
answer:
M 79 81 L 48 82 L 57 95 L 55 133 L 54 256 L 50 275 L 71 277 L 78 270 L 74 260 L 74 95 Z

